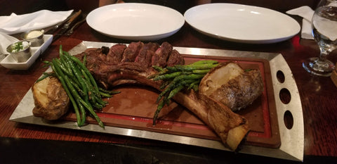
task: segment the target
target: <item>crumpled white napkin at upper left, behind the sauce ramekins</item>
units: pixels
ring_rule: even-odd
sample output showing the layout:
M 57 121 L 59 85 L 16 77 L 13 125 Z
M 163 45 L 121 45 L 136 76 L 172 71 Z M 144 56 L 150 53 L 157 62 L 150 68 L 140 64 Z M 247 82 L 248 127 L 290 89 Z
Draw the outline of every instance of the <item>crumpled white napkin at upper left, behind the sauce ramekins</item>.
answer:
M 0 16 L 0 32 L 5 34 L 17 34 L 28 30 L 41 29 L 55 25 L 65 20 L 70 11 L 48 11 L 42 10 L 34 13 L 9 16 Z

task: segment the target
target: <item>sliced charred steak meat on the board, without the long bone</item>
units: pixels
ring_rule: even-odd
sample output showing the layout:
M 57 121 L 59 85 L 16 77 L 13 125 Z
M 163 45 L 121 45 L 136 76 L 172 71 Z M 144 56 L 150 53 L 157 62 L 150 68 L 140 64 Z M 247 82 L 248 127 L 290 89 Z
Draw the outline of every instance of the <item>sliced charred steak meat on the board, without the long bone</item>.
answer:
M 159 89 L 161 81 L 147 80 L 149 75 L 156 73 L 152 65 L 164 68 L 185 63 L 183 56 L 168 42 L 161 45 L 152 42 L 131 42 L 128 46 L 115 44 L 106 55 L 103 48 L 88 49 L 76 55 L 81 61 L 84 56 L 86 67 L 105 88 L 138 82 Z

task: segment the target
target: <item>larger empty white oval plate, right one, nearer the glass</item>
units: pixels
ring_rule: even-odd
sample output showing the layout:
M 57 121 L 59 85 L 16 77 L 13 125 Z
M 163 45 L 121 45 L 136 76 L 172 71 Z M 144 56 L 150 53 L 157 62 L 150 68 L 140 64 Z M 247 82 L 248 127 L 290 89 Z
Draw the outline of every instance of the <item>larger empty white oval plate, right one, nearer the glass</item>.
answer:
M 204 4 L 188 9 L 185 20 L 199 32 L 231 42 L 282 42 L 300 31 L 289 15 L 240 4 Z

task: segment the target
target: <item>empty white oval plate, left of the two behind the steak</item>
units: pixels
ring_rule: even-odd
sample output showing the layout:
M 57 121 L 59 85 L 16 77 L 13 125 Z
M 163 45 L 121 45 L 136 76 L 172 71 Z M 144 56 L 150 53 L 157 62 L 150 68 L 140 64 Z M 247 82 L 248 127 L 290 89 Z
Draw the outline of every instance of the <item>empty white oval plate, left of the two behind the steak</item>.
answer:
M 185 19 L 178 11 L 165 6 L 125 3 L 96 8 L 88 14 L 86 22 L 110 37 L 151 41 L 175 34 Z

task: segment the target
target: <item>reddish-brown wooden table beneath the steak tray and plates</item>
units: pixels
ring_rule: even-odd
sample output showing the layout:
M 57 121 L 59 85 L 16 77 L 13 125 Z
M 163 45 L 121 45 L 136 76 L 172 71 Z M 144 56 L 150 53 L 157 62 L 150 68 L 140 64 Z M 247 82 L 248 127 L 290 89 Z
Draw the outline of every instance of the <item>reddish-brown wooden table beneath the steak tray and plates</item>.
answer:
M 34 84 L 41 73 L 46 70 L 46 68 L 42 67 L 44 65 L 42 61 L 51 61 L 52 58 L 57 57 L 61 44 L 63 49 L 68 51 L 82 40 L 125 44 L 130 42 L 106 37 L 92 30 L 86 23 L 83 23 L 70 37 L 60 37 L 53 42 L 29 70 L 9 70 L 0 66 L 0 163 L 1 158 L 5 163 L 8 161 L 27 162 L 29 159 L 35 159 L 32 156 L 39 153 L 42 154 L 39 157 L 41 160 L 35 159 L 32 163 L 55 161 L 48 160 L 54 158 L 60 159 L 58 160 L 60 163 L 72 163 L 76 161 L 65 160 L 67 158 L 86 159 L 87 162 L 102 162 L 104 160 L 111 160 L 109 153 L 105 149 L 114 151 L 114 144 L 146 146 L 146 149 L 166 150 L 165 152 L 169 153 L 166 156 L 167 158 L 171 158 L 173 156 L 172 152 L 177 151 L 178 154 L 176 156 L 181 158 L 180 161 L 187 161 L 186 158 L 190 157 L 190 159 L 194 160 L 194 163 L 205 163 L 205 161 L 210 163 L 211 161 L 213 163 L 214 161 L 244 163 L 246 160 L 253 161 L 253 163 L 295 163 L 288 160 L 205 150 L 191 146 L 163 143 L 161 141 L 149 141 L 147 139 L 120 137 L 113 134 L 82 132 L 9 121 L 8 119 L 22 97 L 32 87 L 32 84 Z M 178 33 L 158 42 L 164 41 L 173 44 L 173 46 L 282 53 L 293 72 L 303 107 L 305 128 L 304 163 L 323 163 L 324 161 L 327 163 L 337 163 L 337 87 L 333 84 L 330 77 L 316 77 L 305 72 L 302 68 L 302 61 L 305 58 L 317 56 L 319 53 L 318 46 L 314 41 L 300 39 L 300 36 L 296 35 L 285 42 L 276 44 L 239 44 L 206 37 L 204 34 L 192 30 L 189 25 L 184 25 Z M 332 60 L 333 62 L 337 62 L 336 51 L 333 53 Z M 18 147 L 13 148 L 15 145 Z M 84 149 L 81 151 L 83 154 L 81 158 L 79 149 Z M 48 153 L 48 151 L 50 152 Z M 152 151 L 148 150 L 148 152 Z M 203 152 L 201 153 L 201 151 Z M 20 160 L 18 154 L 22 156 L 22 160 Z M 202 155 L 199 156 L 199 154 Z M 56 157 L 42 157 L 48 155 Z M 13 160 L 13 158 L 16 158 L 16 160 Z M 28 160 L 23 160 L 25 158 Z

